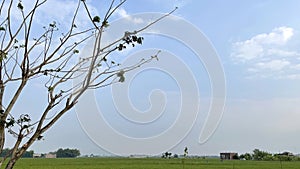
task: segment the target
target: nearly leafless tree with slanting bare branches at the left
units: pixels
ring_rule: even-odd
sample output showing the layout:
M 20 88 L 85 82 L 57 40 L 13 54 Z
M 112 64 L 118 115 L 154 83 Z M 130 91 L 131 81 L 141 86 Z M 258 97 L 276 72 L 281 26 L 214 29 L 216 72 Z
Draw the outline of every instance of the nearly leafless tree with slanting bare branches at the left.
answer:
M 134 65 L 120 68 L 109 57 L 115 51 L 122 51 L 128 45 L 142 44 L 139 33 L 159 20 L 173 13 L 157 18 L 139 30 L 124 32 L 119 39 L 104 45 L 103 32 L 109 29 L 109 19 L 126 0 L 111 0 L 103 17 L 95 16 L 85 0 L 78 0 L 69 27 L 60 30 L 59 24 L 49 21 L 47 26 L 37 27 L 36 13 L 47 0 L 32 1 L 33 6 L 24 6 L 22 1 L 2 0 L 0 4 L 0 153 L 3 152 L 7 134 L 14 136 L 14 146 L 0 161 L 0 167 L 9 157 L 7 169 L 13 168 L 26 150 L 50 129 L 65 113 L 69 112 L 79 98 L 91 89 L 99 89 L 123 82 L 125 73 L 157 59 L 157 54 L 137 61 Z M 53 7 L 55 8 L 55 7 Z M 86 13 L 89 26 L 81 27 L 79 11 Z M 13 19 L 18 12 L 20 18 Z M 92 54 L 78 59 L 84 42 L 94 39 Z M 76 62 L 75 62 L 76 61 Z M 100 70 L 99 70 L 100 69 Z M 70 80 L 80 77 L 73 86 Z M 47 100 L 32 118 L 28 112 L 15 112 L 14 107 L 22 103 L 21 94 L 33 88 L 32 82 L 43 83 L 45 95 L 31 93 L 31 97 Z

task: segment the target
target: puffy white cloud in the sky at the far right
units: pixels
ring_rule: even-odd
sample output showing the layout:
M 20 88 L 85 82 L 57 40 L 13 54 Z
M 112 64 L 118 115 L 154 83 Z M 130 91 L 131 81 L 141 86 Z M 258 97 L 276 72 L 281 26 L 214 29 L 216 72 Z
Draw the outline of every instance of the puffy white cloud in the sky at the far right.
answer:
M 231 57 L 247 67 L 250 77 L 300 79 L 300 51 L 292 44 L 292 39 L 300 37 L 295 32 L 284 26 L 234 42 Z

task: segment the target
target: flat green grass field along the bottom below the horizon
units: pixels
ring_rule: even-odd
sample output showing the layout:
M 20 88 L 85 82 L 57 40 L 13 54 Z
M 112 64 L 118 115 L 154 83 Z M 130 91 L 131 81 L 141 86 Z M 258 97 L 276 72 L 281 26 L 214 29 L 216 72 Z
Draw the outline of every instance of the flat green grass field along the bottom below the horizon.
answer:
M 184 163 L 184 164 L 183 164 Z M 218 159 L 74 158 L 20 159 L 16 169 L 300 169 L 299 161 L 223 161 Z

